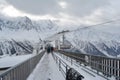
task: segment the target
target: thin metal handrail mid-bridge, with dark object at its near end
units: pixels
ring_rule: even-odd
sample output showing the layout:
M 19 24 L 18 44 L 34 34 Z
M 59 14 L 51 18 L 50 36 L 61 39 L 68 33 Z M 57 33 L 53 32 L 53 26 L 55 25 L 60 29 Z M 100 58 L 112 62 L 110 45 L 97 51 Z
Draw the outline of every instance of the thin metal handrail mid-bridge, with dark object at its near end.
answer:
M 63 61 L 60 57 L 58 57 L 56 54 L 53 54 L 53 58 L 56 61 L 56 63 L 59 66 L 59 71 L 62 72 L 63 76 L 66 78 L 66 80 L 82 80 L 84 77 L 77 72 L 75 69 L 71 68 L 65 61 Z

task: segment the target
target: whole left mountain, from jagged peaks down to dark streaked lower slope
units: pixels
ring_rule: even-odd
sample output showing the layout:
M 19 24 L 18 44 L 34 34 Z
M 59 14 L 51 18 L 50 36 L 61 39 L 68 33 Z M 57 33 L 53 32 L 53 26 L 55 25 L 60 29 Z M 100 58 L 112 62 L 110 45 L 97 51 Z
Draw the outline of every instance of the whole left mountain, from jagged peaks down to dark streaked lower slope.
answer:
M 0 55 L 24 54 L 32 50 L 34 41 L 58 31 L 51 20 L 32 21 L 28 17 L 0 18 Z M 14 39 L 14 40 L 12 40 Z

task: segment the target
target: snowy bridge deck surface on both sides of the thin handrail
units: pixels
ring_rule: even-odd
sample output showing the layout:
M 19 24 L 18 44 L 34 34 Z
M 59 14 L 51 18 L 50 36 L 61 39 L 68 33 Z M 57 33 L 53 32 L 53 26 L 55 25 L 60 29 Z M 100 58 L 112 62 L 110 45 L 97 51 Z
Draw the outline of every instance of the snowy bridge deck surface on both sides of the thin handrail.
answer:
M 65 61 L 69 66 L 76 69 L 80 74 L 84 76 L 83 80 L 106 80 L 105 78 L 85 69 L 82 66 L 77 66 L 72 64 L 65 59 L 63 59 L 58 54 L 55 54 Z M 38 63 L 37 67 L 33 73 L 28 77 L 27 80 L 65 80 L 65 77 L 59 71 L 58 65 L 55 63 L 51 54 L 45 53 L 41 61 Z M 110 79 L 113 80 L 113 79 Z

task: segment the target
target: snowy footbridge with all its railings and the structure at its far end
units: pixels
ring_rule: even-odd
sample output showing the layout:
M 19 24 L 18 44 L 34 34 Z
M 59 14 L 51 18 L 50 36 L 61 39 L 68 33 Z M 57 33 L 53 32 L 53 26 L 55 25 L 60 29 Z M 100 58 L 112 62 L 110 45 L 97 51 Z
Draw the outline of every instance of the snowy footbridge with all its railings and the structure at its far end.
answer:
M 2 71 L 0 80 L 120 80 L 120 59 L 61 49 L 57 35 L 62 36 L 64 45 L 67 32 L 47 38 L 42 42 L 43 49 L 36 48 L 32 57 Z M 15 43 L 28 52 L 33 51 L 33 48 Z M 54 43 L 56 49 L 47 54 L 44 47 L 50 43 Z

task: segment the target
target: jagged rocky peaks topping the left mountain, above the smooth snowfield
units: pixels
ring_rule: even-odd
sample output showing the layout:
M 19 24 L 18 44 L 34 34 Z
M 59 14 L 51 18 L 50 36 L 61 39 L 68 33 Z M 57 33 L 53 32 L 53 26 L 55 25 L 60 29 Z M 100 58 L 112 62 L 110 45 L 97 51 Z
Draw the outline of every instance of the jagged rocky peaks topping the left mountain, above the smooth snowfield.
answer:
M 44 26 L 44 27 L 43 27 Z M 51 20 L 32 21 L 28 17 L 18 17 L 13 19 L 0 19 L 0 30 L 8 28 L 10 30 L 31 30 L 44 31 L 58 28 Z

